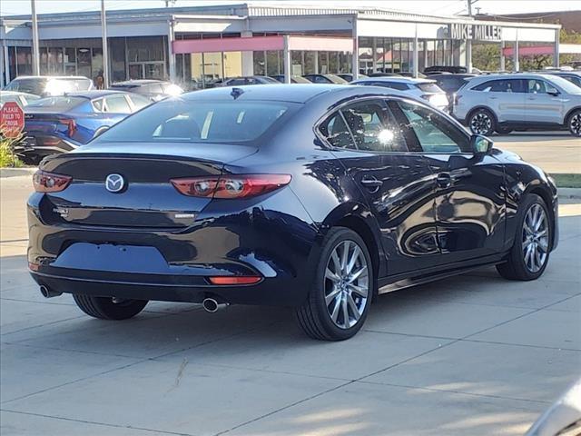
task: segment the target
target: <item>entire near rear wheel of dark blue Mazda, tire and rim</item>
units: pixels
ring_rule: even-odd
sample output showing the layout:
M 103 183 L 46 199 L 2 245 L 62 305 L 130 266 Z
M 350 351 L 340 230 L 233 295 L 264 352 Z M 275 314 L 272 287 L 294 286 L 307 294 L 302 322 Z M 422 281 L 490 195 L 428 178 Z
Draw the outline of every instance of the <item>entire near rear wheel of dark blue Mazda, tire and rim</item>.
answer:
M 314 339 L 349 339 L 367 318 L 373 283 L 369 250 L 359 234 L 345 227 L 331 229 L 309 297 L 296 310 L 300 327 Z

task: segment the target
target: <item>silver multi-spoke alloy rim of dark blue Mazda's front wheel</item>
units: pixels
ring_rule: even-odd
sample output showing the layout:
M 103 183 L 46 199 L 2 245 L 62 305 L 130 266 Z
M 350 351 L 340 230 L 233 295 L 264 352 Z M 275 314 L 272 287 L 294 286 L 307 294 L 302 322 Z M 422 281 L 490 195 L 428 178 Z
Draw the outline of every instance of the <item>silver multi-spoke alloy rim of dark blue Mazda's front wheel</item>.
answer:
M 538 203 L 533 204 L 523 223 L 523 258 L 530 272 L 539 272 L 547 262 L 548 231 L 545 209 Z

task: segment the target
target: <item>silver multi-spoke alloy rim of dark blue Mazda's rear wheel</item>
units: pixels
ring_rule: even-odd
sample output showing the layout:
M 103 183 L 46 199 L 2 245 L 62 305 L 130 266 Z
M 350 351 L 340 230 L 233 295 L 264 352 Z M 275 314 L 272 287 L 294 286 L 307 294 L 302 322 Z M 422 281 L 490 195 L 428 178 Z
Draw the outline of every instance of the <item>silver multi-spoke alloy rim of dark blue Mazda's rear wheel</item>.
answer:
M 369 271 L 358 243 L 342 241 L 331 252 L 325 269 L 325 305 L 332 322 L 353 327 L 369 301 Z

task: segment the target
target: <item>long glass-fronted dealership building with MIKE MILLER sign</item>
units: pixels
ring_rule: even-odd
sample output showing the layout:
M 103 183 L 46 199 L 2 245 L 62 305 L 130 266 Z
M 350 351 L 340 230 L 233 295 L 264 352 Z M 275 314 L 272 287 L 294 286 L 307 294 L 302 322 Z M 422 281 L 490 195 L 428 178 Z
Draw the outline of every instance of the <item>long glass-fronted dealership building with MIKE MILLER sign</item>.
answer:
M 558 64 L 560 30 L 560 25 L 282 2 L 108 11 L 106 25 L 112 82 L 170 79 L 190 88 L 251 74 L 470 68 L 474 44 L 510 48 L 517 70 L 519 49 L 548 45 Z M 41 74 L 103 74 L 99 12 L 38 15 L 38 35 Z M 0 45 L 0 84 L 32 74 L 30 15 L 0 18 Z M 504 69 L 507 51 L 498 53 Z

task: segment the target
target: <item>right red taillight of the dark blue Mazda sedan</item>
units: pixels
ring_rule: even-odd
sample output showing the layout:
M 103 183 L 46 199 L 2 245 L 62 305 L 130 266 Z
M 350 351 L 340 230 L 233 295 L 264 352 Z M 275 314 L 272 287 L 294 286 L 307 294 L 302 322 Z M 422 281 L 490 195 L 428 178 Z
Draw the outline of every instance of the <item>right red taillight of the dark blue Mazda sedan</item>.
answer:
M 221 175 L 172 179 L 184 195 L 205 198 L 249 198 L 270 193 L 291 182 L 289 174 Z

